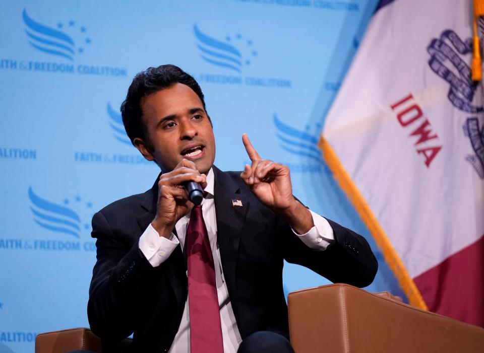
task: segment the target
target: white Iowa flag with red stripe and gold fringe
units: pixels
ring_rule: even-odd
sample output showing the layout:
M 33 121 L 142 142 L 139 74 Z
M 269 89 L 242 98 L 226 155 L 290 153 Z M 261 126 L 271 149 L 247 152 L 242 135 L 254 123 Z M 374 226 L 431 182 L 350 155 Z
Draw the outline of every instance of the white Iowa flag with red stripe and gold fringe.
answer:
M 410 304 L 484 326 L 473 16 L 471 0 L 382 1 L 320 145 Z

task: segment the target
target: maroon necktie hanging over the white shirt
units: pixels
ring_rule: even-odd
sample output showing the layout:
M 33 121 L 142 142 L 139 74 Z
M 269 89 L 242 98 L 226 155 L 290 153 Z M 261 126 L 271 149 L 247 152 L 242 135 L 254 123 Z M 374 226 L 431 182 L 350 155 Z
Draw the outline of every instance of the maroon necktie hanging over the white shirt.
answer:
M 187 229 L 188 298 L 192 353 L 223 353 L 212 250 L 202 206 L 193 207 Z

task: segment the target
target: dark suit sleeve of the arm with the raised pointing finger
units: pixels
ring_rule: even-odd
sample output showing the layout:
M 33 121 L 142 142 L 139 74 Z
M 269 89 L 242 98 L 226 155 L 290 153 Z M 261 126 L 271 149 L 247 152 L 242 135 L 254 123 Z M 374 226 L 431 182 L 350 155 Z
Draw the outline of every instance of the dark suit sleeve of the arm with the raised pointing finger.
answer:
M 334 236 L 334 242 L 326 250 L 312 250 L 297 239 L 292 230 L 284 230 L 284 258 L 288 262 L 311 268 L 333 283 L 369 286 L 378 269 L 378 261 L 370 245 L 355 232 L 326 220 L 331 225 Z

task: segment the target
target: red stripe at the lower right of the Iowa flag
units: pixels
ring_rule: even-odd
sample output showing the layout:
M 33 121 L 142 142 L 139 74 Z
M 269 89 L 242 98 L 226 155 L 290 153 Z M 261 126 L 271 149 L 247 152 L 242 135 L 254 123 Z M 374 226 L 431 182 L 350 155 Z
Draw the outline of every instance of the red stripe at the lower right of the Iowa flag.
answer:
M 414 282 L 429 310 L 484 327 L 484 236 Z

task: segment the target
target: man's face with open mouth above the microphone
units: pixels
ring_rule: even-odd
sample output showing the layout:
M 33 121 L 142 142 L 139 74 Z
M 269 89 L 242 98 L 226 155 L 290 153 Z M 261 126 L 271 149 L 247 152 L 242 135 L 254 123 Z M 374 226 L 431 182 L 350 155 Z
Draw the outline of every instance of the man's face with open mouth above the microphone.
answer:
M 141 101 L 142 121 L 154 151 L 135 139 L 135 145 L 163 172 L 173 170 L 182 159 L 195 162 L 200 173 L 207 173 L 215 159 L 212 125 L 202 101 L 188 86 L 174 84 L 150 94 Z

